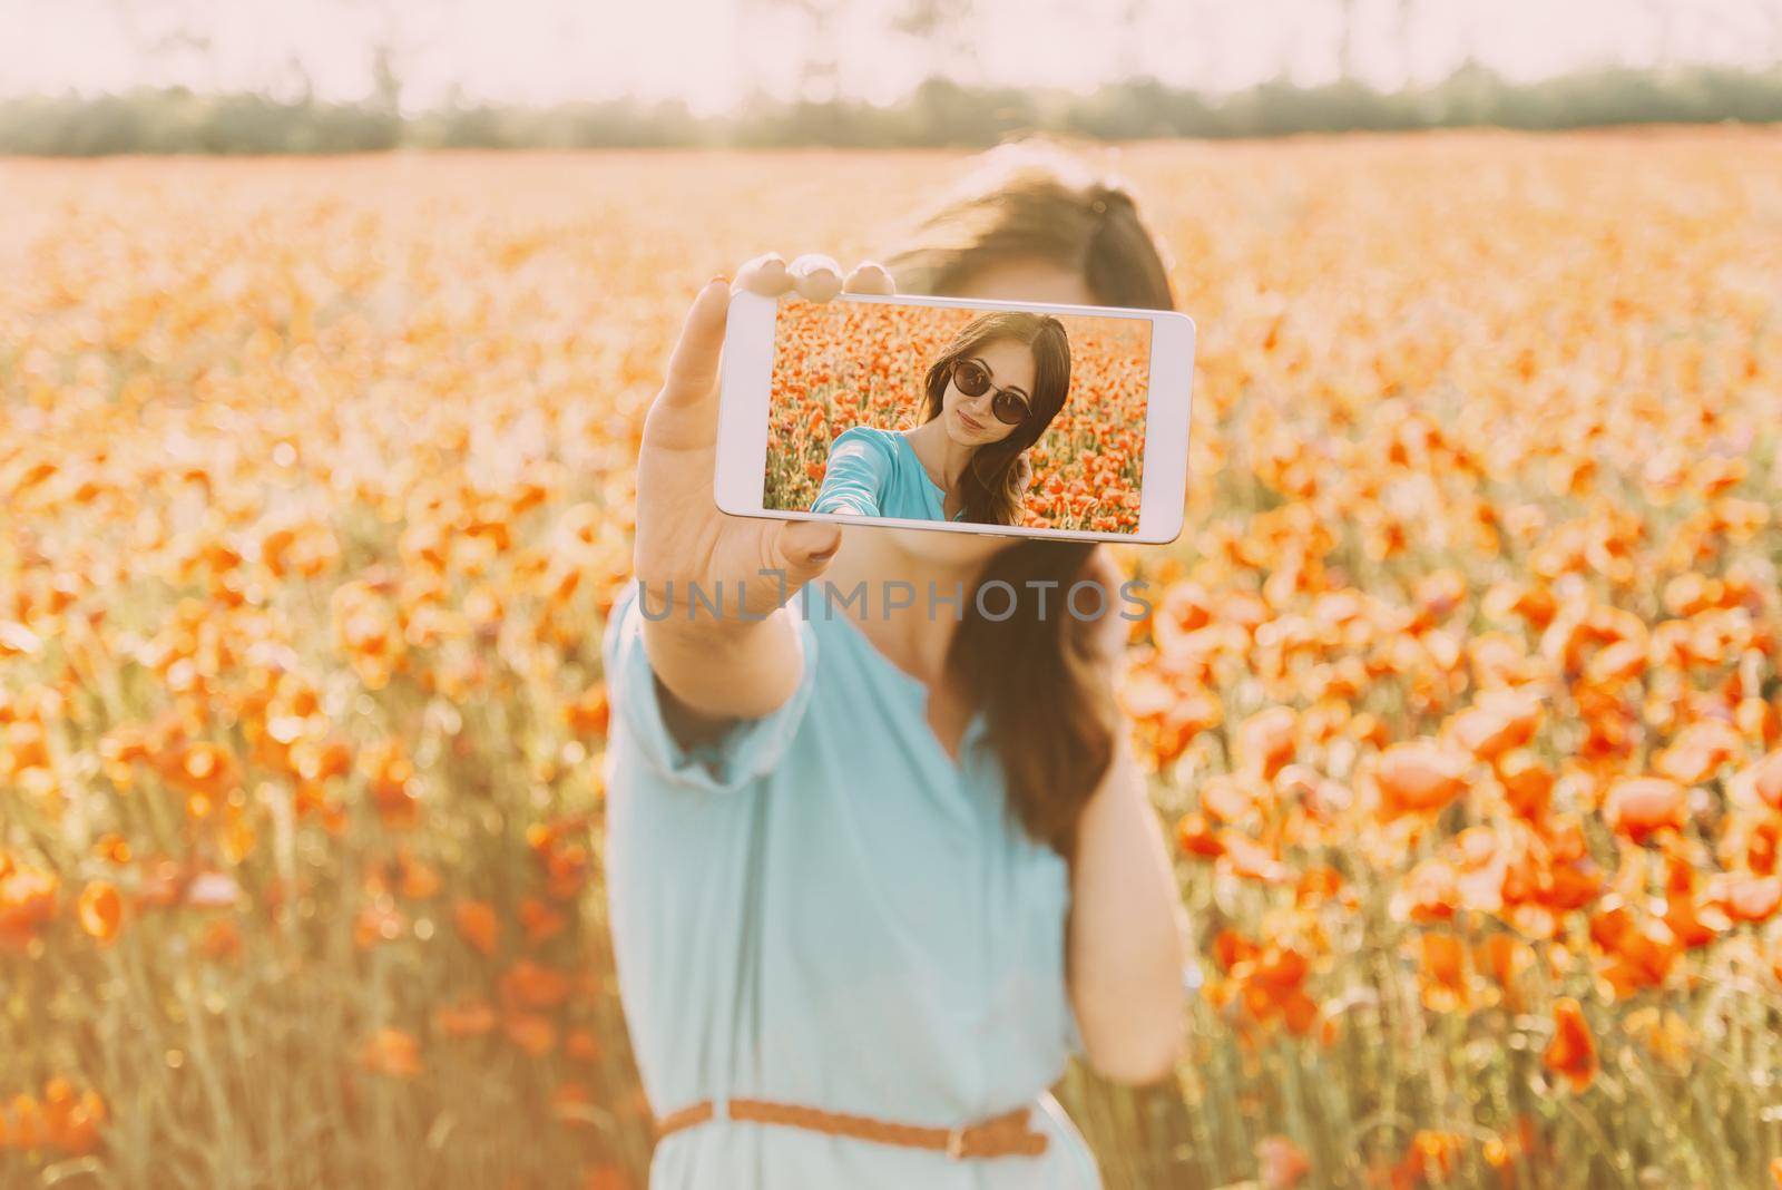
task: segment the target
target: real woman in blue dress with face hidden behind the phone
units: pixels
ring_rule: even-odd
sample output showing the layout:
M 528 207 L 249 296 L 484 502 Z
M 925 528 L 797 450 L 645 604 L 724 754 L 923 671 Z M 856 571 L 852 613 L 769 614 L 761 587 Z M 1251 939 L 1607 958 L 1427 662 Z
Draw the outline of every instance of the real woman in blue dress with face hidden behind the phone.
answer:
M 1076 175 L 998 148 L 891 265 L 918 292 L 1169 306 L 1132 201 Z M 845 285 L 893 292 L 873 264 Z M 736 287 L 827 301 L 843 278 L 768 255 Z M 718 513 L 729 294 L 700 290 L 645 419 L 638 583 L 604 638 L 650 1186 L 1098 1186 L 1046 1088 L 1073 1051 L 1165 1076 L 1185 1017 L 1181 905 L 1112 697 L 1124 622 L 1060 615 L 1064 588 L 1119 575 L 1094 543 Z M 820 575 L 941 602 L 813 615 Z M 690 616 L 690 584 L 720 583 L 741 606 Z M 978 609 L 989 583 L 1007 615 Z

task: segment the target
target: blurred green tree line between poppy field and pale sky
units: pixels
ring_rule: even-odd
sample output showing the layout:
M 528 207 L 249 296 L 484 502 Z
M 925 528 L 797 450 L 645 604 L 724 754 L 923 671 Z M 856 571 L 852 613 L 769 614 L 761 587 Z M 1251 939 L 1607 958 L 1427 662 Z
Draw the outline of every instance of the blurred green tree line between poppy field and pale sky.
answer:
M 1304 132 L 1454 126 L 1581 128 L 1632 123 L 1782 119 L 1782 68 L 1598 68 L 1511 82 L 1468 62 L 1447 78 L 1376 91 L 1345 78 L 1285 80 L 1228 96 L 1155 78 L 1091 94 L 968 87 L 928 78 L 893 105 L 754 96 L 725 116 L 681 102 L 602 100 L 552 107 L 451 103 L 403 114 L 390 93 L 358 103 L 280 100 L 184 87 L 0 102 L 0 153 L 353 153 L 396 148 L 903 148 L 994 144 L 1018 130 L 1108 141 L 1267 137 Z

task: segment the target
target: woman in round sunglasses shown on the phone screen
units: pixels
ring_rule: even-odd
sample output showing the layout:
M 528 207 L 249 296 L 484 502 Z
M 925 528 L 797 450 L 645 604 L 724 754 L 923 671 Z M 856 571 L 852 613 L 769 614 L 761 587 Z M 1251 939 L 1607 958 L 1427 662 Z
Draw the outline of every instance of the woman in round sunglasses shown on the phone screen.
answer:
M 1012 526 L 1039 442 L 1071 390 L 1071 338 L 1050 314 L 968 322 L 928 365 L 909 433 L 854 426 L 829 445 L 813 513 Z

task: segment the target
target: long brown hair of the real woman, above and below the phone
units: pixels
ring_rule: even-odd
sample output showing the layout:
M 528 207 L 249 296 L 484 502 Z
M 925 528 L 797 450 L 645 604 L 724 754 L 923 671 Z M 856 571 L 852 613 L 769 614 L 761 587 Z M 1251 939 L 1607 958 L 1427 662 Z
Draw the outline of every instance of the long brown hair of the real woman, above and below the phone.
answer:
M 944 296 L 1000 260 L 1037 258 L 1078 273 L 1094 305 L 1174 308 L 1165 249 L 1126 183 L 1050 137 L 985 153 L 880 258 L 907 294 Z M 946 656 L 948 675 L 985 713 L 1012 816 L 1067 860 L 1123 730 L 1096 645 L 1107 625 L 1064 611 L 1073 583 L 1103 574 L 1098 561 L 1092 542 L 1026 540 L 1000 550 L 978 583 L 1007 583 L 1012 615 L 993 620 L 977 599 L 964 600 Z M 1009 604 L 1001 591 L 987 602 L 998 613 Z M 1105 591 L 1103 606 L 1116 615 L 1117 595 Z

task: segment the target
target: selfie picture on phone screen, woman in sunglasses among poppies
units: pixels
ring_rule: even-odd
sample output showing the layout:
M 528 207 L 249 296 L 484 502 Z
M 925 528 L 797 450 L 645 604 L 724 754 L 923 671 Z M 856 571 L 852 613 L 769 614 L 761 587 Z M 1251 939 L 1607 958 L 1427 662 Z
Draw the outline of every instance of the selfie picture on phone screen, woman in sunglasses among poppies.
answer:
M 1151 322 L 788 301 L 763 506 L 1135 533 Z

